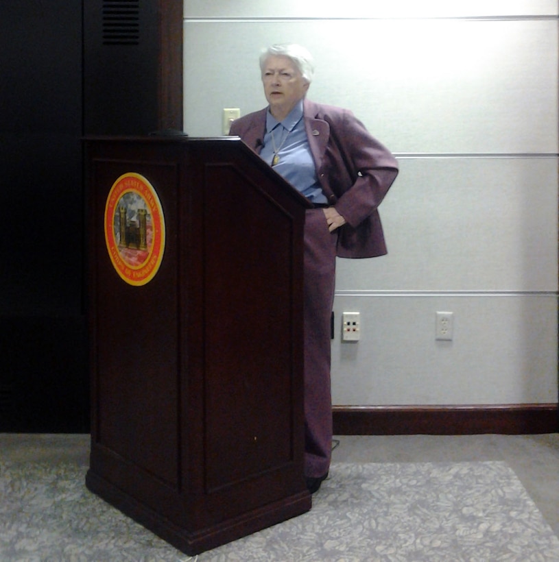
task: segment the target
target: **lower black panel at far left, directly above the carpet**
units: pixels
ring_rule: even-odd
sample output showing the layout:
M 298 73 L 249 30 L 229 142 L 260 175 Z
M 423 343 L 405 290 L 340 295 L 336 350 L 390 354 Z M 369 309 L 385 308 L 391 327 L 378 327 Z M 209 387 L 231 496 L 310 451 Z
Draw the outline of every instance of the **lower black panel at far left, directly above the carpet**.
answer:
M 89 427 L 81 317 L 3 319 L 0 431 L 81 433 Z

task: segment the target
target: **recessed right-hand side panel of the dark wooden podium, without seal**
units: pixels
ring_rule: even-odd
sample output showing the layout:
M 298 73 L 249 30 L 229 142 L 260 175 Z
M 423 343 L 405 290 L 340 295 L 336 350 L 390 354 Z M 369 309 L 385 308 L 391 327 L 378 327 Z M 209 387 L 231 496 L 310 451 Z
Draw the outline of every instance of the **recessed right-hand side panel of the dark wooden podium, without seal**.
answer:
M 204 177 L 214 186 L 204 189 L 203 236 L 206 483 L 214 489 L 294 461 L 294 217 L 232 166 L 206 167 Z M 215 223 L 219 205 L 228 212 Z

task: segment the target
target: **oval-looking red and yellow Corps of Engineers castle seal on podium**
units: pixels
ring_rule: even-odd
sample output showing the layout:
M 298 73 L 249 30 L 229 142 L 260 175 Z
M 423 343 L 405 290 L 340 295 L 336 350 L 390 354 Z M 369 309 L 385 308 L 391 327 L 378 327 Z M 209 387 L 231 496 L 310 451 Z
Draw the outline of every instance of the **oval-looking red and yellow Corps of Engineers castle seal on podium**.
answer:
M 156 275 L 165 251 L 165 219 L 152 184 L 125 173 L 112 184 L 105 206 L 105 242 L 113 267 L 131 285 Z

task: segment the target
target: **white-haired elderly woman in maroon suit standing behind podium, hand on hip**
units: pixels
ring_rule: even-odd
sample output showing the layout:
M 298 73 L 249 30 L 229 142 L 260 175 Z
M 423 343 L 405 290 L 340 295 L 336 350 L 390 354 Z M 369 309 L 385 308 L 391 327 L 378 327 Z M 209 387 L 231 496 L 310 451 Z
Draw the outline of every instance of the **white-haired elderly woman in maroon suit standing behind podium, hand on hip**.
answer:
M 260 57 L 268 106 L 237 119 L 240 136 L 315 208 L 305 217 L 305 476 L 328 476 L 332 448 L 330 318 L 335 258 L 386 254 L 378 206 L 396 178 L 394 156 L 352 112 L 309 101 L 309 52 L 272 45 Z

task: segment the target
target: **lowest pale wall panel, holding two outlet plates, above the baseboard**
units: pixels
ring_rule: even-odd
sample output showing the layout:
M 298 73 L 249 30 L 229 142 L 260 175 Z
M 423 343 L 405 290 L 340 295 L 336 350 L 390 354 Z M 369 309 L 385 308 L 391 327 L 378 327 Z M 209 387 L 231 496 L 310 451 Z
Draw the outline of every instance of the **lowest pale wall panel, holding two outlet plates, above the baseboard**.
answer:
M 361 341 L 340 341 L 343 310 Z M 435 313 L 454 313 L 453 341 Z M 557 402 L 555 295 L 337 295 L 334 404 Z

